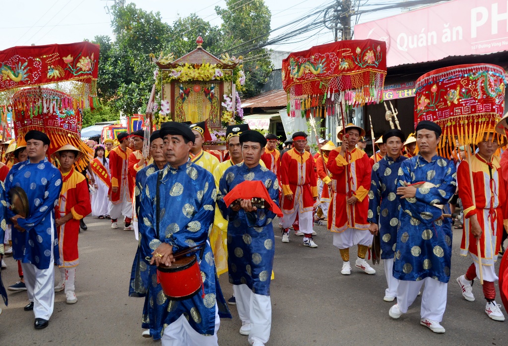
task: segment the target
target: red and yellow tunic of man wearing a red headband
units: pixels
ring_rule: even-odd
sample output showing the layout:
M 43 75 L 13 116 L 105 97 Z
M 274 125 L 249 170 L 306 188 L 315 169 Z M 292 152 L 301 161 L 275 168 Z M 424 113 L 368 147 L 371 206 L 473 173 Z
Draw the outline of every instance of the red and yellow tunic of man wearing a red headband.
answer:
M 298 152 L 295 148 L 285 152 L 280 163 L 282 184 L 282 212 L 295 212 L 295 201 L 300 201 L 300 212 L 311 211 L 317 198 L 317 180 L 314 173 L 314 158 L 308 151 Z M 293 195 L 293 200 L 285 198 Z

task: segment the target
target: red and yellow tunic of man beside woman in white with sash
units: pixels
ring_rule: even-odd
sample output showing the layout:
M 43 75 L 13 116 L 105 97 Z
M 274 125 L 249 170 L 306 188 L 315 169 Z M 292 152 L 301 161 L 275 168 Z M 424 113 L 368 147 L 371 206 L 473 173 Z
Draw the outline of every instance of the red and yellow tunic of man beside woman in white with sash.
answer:
M 109 170 L 111 171 L 111 187 L 118 187 L 118 191 L 113 193 L 111 191 L 111 203 L 118 204 L 120 197 L 124 194 L 124 189 L 129 188 L 129 155 L 131 155 L 131 148 L 127 147 L 125 151 L 122 150 L 120 145 L 115 147 L 109 152 Z M 134 186 L 133 186 L 134 190 Z M 131 200 L 132 194 L 129 195 Z

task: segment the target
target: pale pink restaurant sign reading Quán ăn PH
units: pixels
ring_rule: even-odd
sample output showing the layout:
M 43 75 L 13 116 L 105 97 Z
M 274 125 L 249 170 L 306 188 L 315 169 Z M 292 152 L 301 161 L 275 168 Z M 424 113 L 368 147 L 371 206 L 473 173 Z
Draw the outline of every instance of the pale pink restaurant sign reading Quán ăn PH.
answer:
M 355 25 L 356 39 L 387 43 L 389 67 L 508 50 L 505 0 L 455 0 Z

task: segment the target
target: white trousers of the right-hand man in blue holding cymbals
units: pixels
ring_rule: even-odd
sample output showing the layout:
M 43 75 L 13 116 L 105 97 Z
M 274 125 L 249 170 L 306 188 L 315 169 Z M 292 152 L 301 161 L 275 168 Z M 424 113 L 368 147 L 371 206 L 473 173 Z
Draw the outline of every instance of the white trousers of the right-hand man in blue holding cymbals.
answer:
M 429 320 L 441 322 L 444 309 L 446 309 L 448 284 L 432 278 L 425 278 L 420 281 L 400 280 L 397 287 L 397 304 L 399 304 L 399 309 L 404 314 L 407 312 L 407 309 L 415 301 L 424 283 L 425 287 L 422 294 L 420 315 L 422 319 L 428 318 Z

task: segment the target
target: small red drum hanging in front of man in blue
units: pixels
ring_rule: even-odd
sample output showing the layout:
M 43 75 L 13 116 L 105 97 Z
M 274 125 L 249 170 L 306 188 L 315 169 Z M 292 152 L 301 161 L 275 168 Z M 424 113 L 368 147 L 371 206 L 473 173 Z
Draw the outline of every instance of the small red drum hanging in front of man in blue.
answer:
M 173 300 L 185 300 L 201 290 L 203 284 L 196 254 L 178 258 L 171 266 L 157 266 L 157 283 Z

